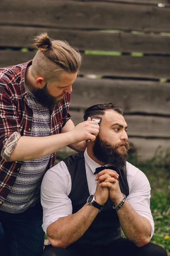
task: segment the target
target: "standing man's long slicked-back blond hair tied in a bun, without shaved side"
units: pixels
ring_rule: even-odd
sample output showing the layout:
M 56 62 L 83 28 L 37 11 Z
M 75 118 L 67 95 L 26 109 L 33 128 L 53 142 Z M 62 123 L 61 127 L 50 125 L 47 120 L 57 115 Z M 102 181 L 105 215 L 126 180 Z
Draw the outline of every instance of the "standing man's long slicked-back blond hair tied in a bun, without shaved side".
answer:
M 43 32 L 35 37 L 33 47 L 38 49 L 37 56 L 35 55 L 37 64 L 42 53 L 49 61 L 57 64 L 59 69 L 71 73 L 79 71 L 82 56 L 78 49 L 70 46 L 67 41 L 51 39 Z

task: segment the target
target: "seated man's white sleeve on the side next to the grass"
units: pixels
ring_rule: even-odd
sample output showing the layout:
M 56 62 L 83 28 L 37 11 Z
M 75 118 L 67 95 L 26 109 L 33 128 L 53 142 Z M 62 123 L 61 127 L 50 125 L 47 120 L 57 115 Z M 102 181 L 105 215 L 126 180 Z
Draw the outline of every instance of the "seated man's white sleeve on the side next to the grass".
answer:
M 128 165 L 130 164 L 128 163 Z M 134 166 L 130 166 L 131 169 L 133 169 Z M 129 195 L 127 196 L 127 201 L 139 215 L 150 221 L 152 226 L 152 237 L 154 233 L 154 221 L 150 211 L 150 183 L 142 171 L 136 167 L 134 168 L 133 172 L 129 172 L 129 175 L 127 175 L 127 181 L 129 184 Z

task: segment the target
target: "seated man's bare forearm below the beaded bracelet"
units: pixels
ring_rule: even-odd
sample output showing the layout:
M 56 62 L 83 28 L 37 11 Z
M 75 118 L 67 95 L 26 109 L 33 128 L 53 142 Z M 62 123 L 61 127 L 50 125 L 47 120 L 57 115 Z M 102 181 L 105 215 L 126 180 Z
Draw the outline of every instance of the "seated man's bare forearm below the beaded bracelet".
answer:
M 139 215 L 127 200 L 122 208 L 117 211 L 117 214 L 127 239 L 138 247 L 142 247 L 150 242 L 150 234 L 152 231 L 150 221 Z

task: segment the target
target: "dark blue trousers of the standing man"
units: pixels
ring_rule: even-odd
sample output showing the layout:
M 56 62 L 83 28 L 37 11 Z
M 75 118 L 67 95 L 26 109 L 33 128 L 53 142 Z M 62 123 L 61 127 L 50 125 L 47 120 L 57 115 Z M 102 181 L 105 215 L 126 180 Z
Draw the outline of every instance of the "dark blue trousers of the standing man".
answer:
M 3 251 L 0 250 L 1 256 L 42 255 L 44 232 L 42 230 L 42 207 L 40 203 L 23 213 L 0 211 L 0 222 L 6 241 L 4 246 L 4 240 L 0 240 L 0 248 L 3 248 Z M 1 244 L 2 241 L 3 244 Z

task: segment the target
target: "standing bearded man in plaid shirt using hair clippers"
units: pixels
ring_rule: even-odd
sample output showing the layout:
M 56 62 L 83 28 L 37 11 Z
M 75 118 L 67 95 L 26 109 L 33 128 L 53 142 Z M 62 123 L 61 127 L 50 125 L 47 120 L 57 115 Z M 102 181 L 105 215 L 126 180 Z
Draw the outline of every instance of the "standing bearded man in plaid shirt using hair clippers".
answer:
M 35 38 L 34 59 L 0 69 L 0 222 L 5 255 L 40 256 L 43 250 L 40 186 L 66 145 L 84 151 L 99 125 L 74 127 L 68 108 L 81 55 L 46 33 Z

